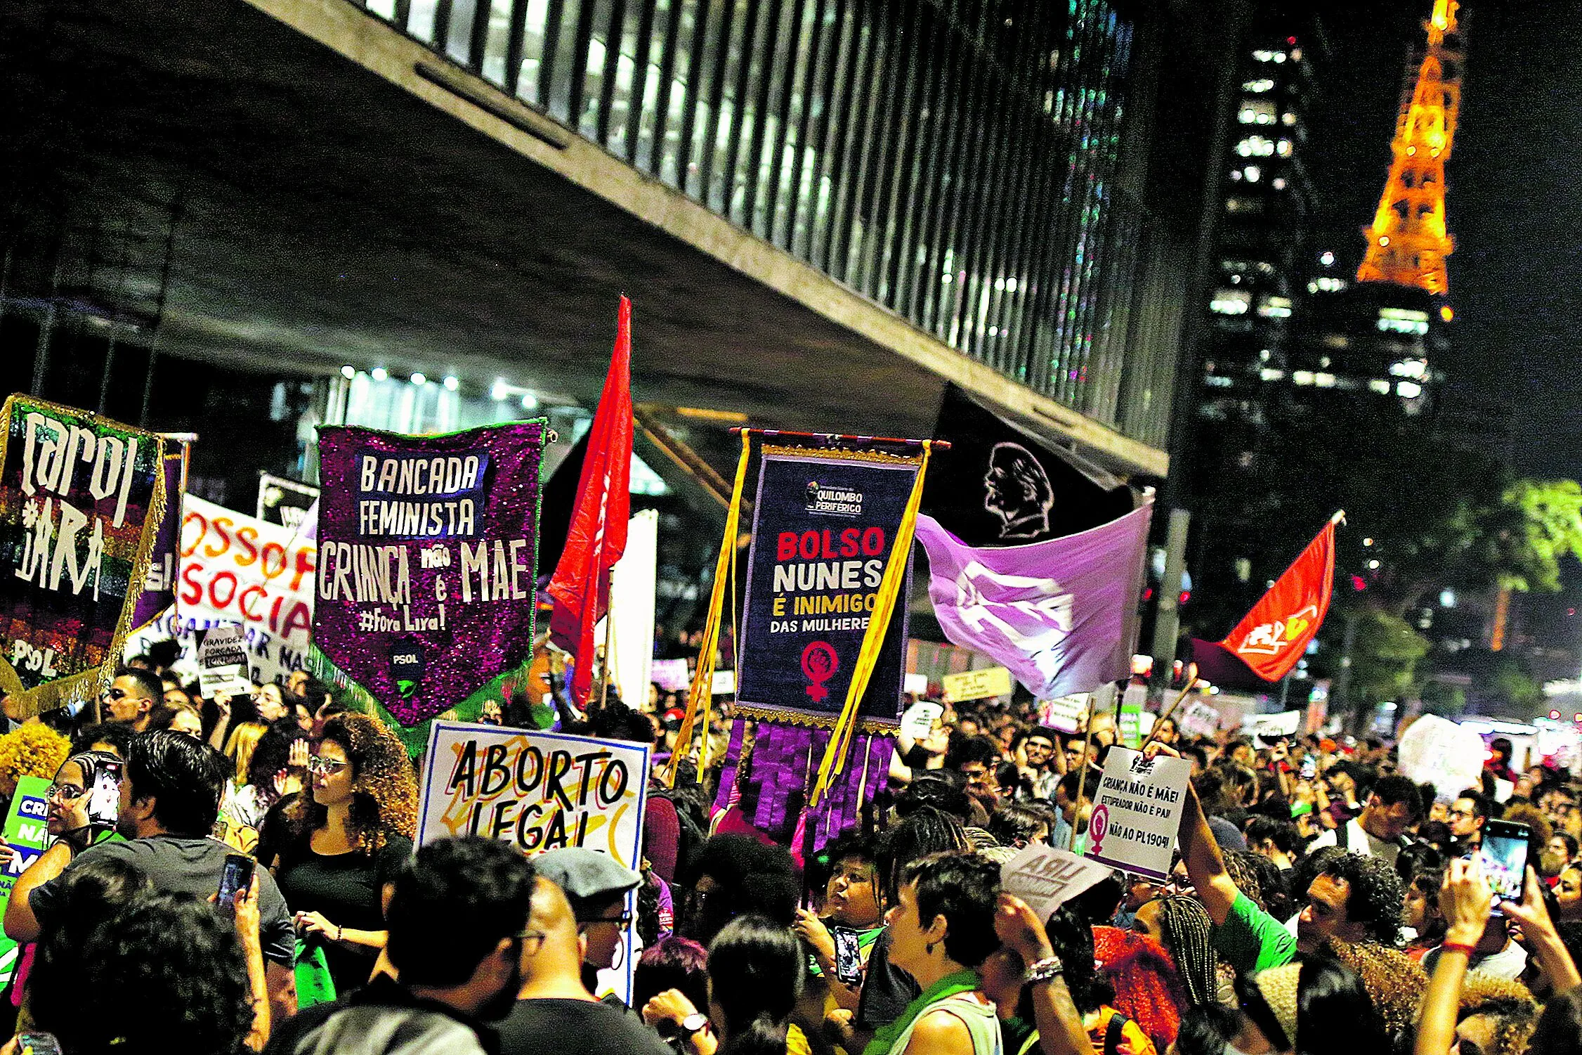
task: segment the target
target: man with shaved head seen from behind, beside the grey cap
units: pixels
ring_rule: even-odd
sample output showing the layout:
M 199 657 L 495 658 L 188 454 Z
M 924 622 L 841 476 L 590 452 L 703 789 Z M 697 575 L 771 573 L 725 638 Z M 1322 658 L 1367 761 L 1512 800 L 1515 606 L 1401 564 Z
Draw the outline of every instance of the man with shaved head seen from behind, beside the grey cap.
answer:
M 674 1055 L 636 1015 L 582 984 L 579 927 L 571 902 L 539 872 L 520 935 L 522 989 L 498 1027 L 501 1055 Z

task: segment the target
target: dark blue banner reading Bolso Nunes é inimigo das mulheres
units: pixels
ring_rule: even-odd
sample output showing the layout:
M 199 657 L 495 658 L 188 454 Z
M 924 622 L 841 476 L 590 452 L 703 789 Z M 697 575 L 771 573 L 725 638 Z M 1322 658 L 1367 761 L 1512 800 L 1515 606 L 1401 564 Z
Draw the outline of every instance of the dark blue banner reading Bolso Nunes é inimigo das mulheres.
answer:
M 747 707 L 840 715 L 918 467 L 782 454 L 767 448 L 753 505 L 753 546 L 736 671 Z M 911 576 L 859 717 L 895 721 L 906 661 Z

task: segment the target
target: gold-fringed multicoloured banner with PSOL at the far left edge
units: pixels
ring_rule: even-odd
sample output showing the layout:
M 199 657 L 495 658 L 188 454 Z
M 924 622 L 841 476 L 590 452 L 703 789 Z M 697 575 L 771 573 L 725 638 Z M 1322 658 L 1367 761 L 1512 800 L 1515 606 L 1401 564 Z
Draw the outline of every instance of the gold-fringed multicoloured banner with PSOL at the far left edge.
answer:
M 160 437 L 25 395 L 0 433 L 0 691 L 16 717 L 98 698 L 165 516 Z

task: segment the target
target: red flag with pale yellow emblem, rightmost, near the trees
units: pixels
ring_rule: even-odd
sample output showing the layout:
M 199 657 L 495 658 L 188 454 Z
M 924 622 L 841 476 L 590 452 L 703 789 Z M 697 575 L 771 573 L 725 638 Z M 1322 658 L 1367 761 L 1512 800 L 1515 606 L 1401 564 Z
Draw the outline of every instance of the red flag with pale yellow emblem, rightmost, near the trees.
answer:
M 1258 677 L 1278 682 L 1324 622 L 1334 582 L 1335 520 L 1330 520 L 1220 645 Z

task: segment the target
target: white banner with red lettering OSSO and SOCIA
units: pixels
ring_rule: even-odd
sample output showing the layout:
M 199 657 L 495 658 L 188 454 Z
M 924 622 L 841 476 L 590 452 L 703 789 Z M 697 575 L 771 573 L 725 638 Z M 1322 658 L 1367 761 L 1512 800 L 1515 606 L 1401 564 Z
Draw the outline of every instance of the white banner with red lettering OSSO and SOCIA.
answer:
M 313 644 L 313 580 L 318 547 L 291 528 L 264 524 L 196 495 L 184 498 L 176 631 L 240 625 L 248 663 L 263 680 L 307 667 Z M 267 637 L 267 641 L 266 641 Z M 261 660 L 271 660 L 261 663 Z

